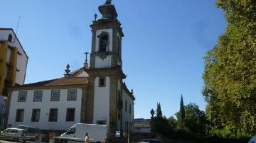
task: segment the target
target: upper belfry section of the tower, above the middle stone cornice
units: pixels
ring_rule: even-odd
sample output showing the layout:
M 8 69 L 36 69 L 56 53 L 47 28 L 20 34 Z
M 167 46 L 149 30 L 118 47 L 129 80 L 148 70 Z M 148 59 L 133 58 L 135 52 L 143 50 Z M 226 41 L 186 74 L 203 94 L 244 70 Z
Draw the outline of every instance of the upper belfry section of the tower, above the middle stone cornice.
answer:
M 102 18 L 95 21 L 92 28 L 92 51 L 90 68 L 122 67 L 122 32 L 117 20 L 117 11 L 110 0 L 99 6 Z

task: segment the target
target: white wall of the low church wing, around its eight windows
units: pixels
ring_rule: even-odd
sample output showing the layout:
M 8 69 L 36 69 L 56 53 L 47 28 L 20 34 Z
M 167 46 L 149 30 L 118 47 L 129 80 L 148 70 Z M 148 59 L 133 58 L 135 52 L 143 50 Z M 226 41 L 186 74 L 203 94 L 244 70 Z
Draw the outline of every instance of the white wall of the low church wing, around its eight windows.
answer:
M 39 90 L 40 91 L 40 90 Z M 82 89 L 77 89 L 77 100 L 67 101 L 68 89 L 60 90 L 60 101 L 50 101 L 51 90 L 43 90 L 42 102 L 33 102 L 34 90 L 27 91 L 26 102 L 18 101 L 18 91 L 11 95 L 8 124 L 12 127 L 17 125 L 31 125 L 41 130 L 68 130 L 75 123 L 80 122 Z M 39 122 L 31 122 L 32 110 L 41 109 Z M 50 108 L 58 108 L 58 121 L 48 122 Z M 75 121 L 66 122 L 67 108 L 75 108 Z M 16 110 L 24 109 L 23 122 L 16 122 Z

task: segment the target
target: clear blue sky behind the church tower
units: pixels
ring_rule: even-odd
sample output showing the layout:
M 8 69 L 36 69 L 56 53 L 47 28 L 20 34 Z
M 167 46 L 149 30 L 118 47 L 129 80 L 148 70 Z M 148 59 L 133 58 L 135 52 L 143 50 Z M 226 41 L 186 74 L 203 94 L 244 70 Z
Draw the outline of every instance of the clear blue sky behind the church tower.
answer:
M 25 83 L 63 77 L 90 52 L 90 24 L 105 0 L 1 0 L 0 28 L 17 29 L 29 57 Z M 113 0 L 122 23 L 122 62 L 134 90 L 134 118 L 150 118 L 161 103 L 169 118 L 184 104 L 205 110 L 203 57 L 227 23 L 215 0 Z M 20 22 L 18 24 L 18 19 Z

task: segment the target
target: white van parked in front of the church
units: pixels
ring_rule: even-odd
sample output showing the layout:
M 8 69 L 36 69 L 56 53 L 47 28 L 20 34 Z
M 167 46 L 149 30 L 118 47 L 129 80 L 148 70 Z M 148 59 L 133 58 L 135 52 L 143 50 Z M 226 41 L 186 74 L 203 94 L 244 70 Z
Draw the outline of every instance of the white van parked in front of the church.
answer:
M 107 139 L 108 129 L 107 125 L 78 123 L 60 135 L 60 138 L 68 140 L 68 143 L 85 142 L 85 132 L 88 132 L 90 142 L 100 143 Z

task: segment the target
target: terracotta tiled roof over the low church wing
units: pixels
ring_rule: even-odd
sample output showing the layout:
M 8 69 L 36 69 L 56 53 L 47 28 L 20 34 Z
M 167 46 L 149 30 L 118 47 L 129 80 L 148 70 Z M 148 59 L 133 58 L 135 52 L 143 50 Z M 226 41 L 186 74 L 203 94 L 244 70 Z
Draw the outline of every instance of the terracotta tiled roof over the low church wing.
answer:
M 74 85 L 87 85 L 89 81 L 86 77 L 71 77 L 52 79 L 48 81 L 41 81 L 32 84 L 16 85 L 15 87 L 33 87 L 33 86 L 74 86 Z

